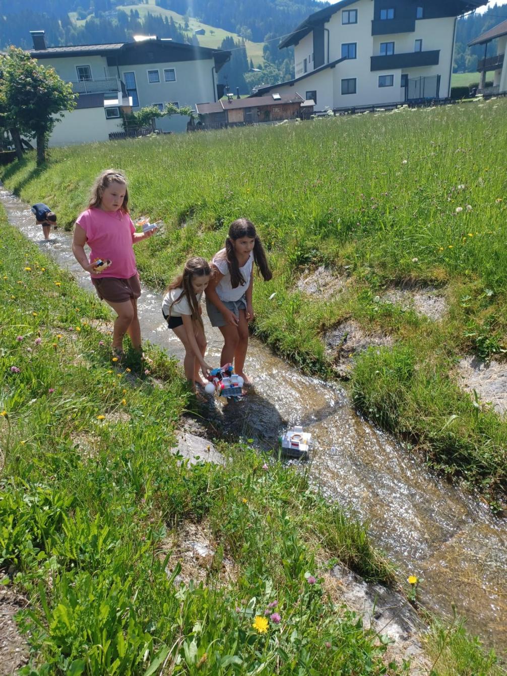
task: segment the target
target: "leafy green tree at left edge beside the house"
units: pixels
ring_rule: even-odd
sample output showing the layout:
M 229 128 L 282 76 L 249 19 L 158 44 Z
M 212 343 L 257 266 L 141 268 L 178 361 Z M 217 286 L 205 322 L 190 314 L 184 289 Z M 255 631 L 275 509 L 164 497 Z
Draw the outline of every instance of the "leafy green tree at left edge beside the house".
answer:
M 39 66 L 22 49 L 11 47 L 1 61 L 0 99 L 22 134 L 37 140 L 37 166 L 45 162 L 47 140 L 64 111 L 74 110 L 72 84 L 54 68 Z

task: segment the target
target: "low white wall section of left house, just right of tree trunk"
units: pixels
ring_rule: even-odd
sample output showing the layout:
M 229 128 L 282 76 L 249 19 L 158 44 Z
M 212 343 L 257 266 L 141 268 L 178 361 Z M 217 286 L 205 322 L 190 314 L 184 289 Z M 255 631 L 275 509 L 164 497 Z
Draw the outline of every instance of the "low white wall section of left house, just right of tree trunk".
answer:
M 49 147 L 108 141 L 110 132 L 116 131 L 123 131 L 121 120 L 107 120 L 103 108 L 73 110 L 55 124 Z

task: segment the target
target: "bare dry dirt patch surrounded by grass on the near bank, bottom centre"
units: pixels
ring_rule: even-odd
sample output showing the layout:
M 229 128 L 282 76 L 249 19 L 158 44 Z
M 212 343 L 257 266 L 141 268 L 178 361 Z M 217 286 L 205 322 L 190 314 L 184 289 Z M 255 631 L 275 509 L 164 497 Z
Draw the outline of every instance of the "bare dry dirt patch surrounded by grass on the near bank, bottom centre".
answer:
M 238 571 L 231 560 L 217 556 L 217 547 L 213 539 L 208 521 L 201 523 L 185 522 L 179 525 L 164 542 L 164 550 L 172 551 L 166 566 L 168 575 L 172 574 L 176 564 L 180 564 L 181 571 L 174 583 L 188 584 L 204 582 L 213 576 L 221 584 L 233 583 L 237 579 Z M 162 552 L 162 557 L 166 553 Z

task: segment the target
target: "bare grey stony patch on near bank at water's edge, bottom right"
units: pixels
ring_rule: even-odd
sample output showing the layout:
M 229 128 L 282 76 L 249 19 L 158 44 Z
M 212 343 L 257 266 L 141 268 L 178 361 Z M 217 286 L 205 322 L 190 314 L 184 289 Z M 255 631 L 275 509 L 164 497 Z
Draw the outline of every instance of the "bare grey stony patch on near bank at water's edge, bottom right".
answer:
M 371 627 L 379 635 L 389 637 L 387 662 L 410 660 L 411 676 L 429 674 L 431 660 L 419 638 L 425 625 L 404 596 L 382 585 L 365 582 L 345 566 L 335 566 L 322 575 L 324 590 L 333 601 L 355 610 L 366 628 Z

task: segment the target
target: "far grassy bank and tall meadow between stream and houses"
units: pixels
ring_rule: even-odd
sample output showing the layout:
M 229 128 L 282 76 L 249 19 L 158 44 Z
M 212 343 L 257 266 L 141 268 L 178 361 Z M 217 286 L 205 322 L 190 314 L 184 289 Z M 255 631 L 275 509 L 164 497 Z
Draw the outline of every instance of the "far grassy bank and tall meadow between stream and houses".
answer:
M 321 340 L 327 329 L 354 318 L 366 331 L 391 335 L 412 354 L 405 404 L 386 395 L 397 376 L 368 382 L 357 375 L 358 406 L 408 430 L 435 465 L 464 476 L 494 505 L 507 491 L 504 423 L 470 404 L 452 374 L 464 354 L 504 352 L 506 113 L 507 101 L 492 99 L 70 147 L 51 151 L 44 168 L 27 158 L 2 174 L 7 187 L 30 203 L 44 199 L 70 225 L 94 176 L 105 166 L 125 170 L 135 214 L 166 222 L 137 249 L 143 279 L 157 287 L 187 256 L 211 258 L 229 222 L 254 220 L 275 272 L 270 283 L 254 285 L 258 335 L 324 374 L 332 370 Z M 301 271 L 320 264 L 349 281 L 343 293 L 297 291 Z M 431 322 L 379 301 L 407 280 L 440 287 L 448 318 Z M 365 363 L 375 372 L 384 359 L 375 353 Z

